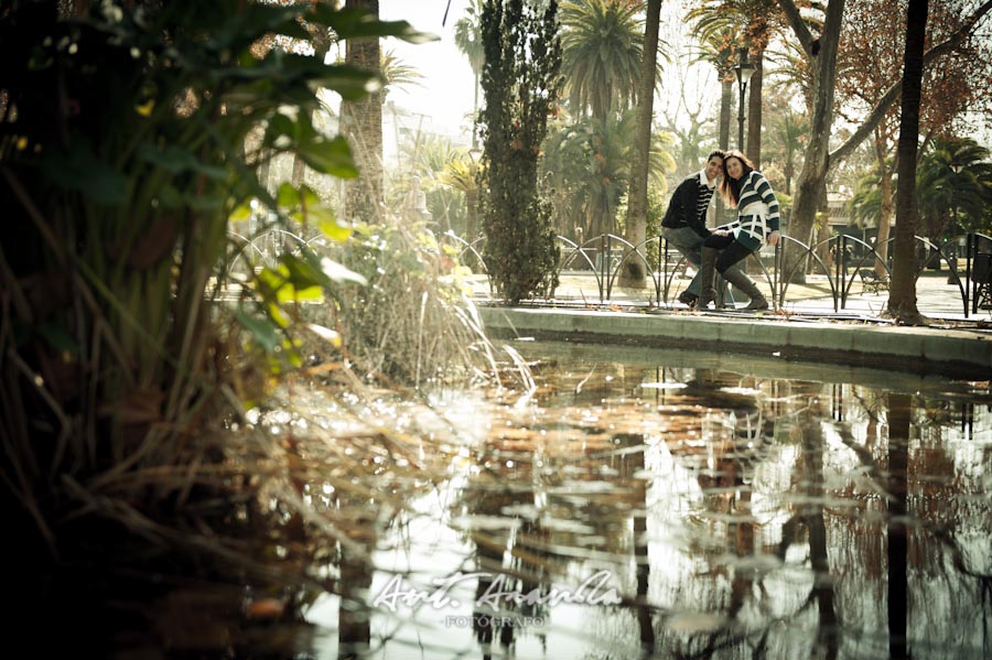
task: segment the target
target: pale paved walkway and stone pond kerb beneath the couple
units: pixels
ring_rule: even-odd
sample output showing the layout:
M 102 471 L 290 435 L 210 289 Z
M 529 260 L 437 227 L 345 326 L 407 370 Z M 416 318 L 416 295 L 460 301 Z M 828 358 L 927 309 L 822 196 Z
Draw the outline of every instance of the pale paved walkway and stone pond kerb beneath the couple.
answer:
M 475 293 L 494 336 L 715 349 L 989 380 L 992 312 L 966 320 L 957 286 L 946 279 L 918 281 L 918 309 L 931 320 L 926 327 L 881 318 L 886 292 L 852 295 L 845 310 L 834 311 L 826 279 L 802 291 L 790 286 L 781 310 L 763 313 L 698 312 L 678 302 L 659 307 L 649 302 L 654 290 L 615 289 L 600 303 L 590 274 L 565 275 L 553 301 L 519 307 L 490 300 L 485 281 L 475 283 Z

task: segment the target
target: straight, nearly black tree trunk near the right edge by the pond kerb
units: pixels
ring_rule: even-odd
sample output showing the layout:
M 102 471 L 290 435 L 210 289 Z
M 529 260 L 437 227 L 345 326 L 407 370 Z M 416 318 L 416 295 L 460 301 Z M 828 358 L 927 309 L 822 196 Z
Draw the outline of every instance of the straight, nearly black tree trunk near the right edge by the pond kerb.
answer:
M 898 180 L 896 190 L 896 238 L 893 250 L 888 314 L 906 323 L 919 323 L 916 307 L 914 259 L 919 209 L 916 199 L 916 154 L 919 141 L 919 98 L 927 32 L 927 0 L 909 0 L 906 10 L 906 51 L 903 56 L 903 108 L 899 119 Z

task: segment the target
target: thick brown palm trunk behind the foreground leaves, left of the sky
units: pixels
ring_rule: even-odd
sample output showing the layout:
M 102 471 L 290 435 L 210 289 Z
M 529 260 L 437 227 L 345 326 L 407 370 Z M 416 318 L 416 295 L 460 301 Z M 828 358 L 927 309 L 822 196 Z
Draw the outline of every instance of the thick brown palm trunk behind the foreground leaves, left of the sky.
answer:
M 362 8 L 379 15 L 378 0 L 347 0 L 345 7 Z M 379 72 L 378 37 L 348 40 L 345 61 L 359 68 Z M 376 91 L 357 101 L 341 104 L 342 130 L 358 165 L 359 177 L 347 184 L 346 214 L 353 221 L 381 223 L 382 214 L 382 94 Z

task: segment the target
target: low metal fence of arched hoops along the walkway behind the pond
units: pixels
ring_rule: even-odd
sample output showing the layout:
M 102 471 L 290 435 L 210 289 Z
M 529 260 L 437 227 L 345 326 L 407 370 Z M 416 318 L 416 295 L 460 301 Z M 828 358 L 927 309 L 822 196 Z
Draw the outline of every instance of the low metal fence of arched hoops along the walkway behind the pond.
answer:
M 483 257 L 484 238 L 468 242 L 451 232 L 440 238 L 457 247 L 463 263 L 488 275 Z M 877 245 L 847 235 L 832 236 L 813 245 L 783 235 L 774 248 L 766 246 L 748 257 L 746 268 L 759 285 L 770 292 L 769 300 L 776 310 L 798 310 L 804 303 L 816 302 L 820 307 L 829 304 L 834 312 L 841 312 L 850 309 L 852 303 L 853 307 L 863 309 L 865 301 L 870 301 L 871 309 L 874 305 L 881 309 L 892 273 L 894 240 L 887 240 L 883 250 Z M 600 304 L 635 300 L 671 306 L 680 289 L 689 282 L 686 260 L 660 236 L 638 245 L 612 234 L 593 237 L 583 244 L 562 236 L 558 241 L 561 284 L 549 292 L 544 299 L 548 302 L 575 297 L 574 292 L 570 294 L 568 290 L 569 281 L 574 283 L 578 278 L 587 282 L 586 289 L 592 286 Z M 992 237 L 968 234 L 964 245 L 958 246 L 950 241 L 937 245 L 917 236 L 915 244 L 917 291 L 925 285 L 927 292 L 919 304 L 923 313 L 927 313 L 927 305 L 937 304 L 945 312 L 957 307 L 967 318 L 980 310 L 992 309 Z M 959 248 L 963 248 L 963 256 L 958 253 Z M 639 264 L 640 271 L 646 273 L 647 286 L 639 293 L 619 285 L 628 262 Z M 942 271 L 944 268 L 947 270 Z M 945 280 L 941 282 L 941 279 Z M 580 297 L 587 300 L 581 285 L 579 291 Z

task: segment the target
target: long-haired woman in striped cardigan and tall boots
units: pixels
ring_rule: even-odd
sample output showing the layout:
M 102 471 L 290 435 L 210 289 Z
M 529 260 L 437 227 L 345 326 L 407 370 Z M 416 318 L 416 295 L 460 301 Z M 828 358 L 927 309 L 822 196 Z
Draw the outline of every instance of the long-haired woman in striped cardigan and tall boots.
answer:
M 746 155 L 736 150 L 727 151 L 723 159 L 720 192 L 727 206 L 737 208 L 737 219 L 703 241 L 700 264 L 702 291 L 696 306 L 703 310 L 716 296 L 713 274 L 720 271 L 727 282 L 751 299 L 745 310 L 767 310 L 768 301 L 754 280 L 743 270 L 731 267 L 761 249 L 766 240 L 773 246 L 778 244 L 778 199 L 768 180 L 754 169 Z

